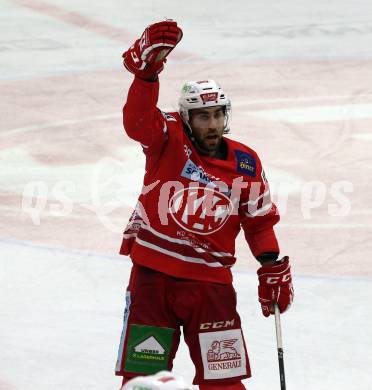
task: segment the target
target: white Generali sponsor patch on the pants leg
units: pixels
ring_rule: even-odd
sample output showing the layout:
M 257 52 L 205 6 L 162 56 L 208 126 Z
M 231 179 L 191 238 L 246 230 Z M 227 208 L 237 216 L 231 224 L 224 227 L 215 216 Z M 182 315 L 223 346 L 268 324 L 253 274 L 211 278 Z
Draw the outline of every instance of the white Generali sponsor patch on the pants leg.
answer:
M 241 329 L 199 333 L 204 379 L 225 379 L 247 374 Z

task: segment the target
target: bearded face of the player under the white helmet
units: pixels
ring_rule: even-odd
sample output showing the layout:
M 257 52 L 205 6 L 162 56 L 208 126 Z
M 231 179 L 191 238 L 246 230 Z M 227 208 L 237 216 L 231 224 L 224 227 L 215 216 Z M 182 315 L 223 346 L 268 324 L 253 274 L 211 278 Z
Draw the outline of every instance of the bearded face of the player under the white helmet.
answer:
M 198 144 L 210 156 L 213 156 L 220 146 L 225 127 L 223 107 L 216 106 L 191 110 L 190 126 Z

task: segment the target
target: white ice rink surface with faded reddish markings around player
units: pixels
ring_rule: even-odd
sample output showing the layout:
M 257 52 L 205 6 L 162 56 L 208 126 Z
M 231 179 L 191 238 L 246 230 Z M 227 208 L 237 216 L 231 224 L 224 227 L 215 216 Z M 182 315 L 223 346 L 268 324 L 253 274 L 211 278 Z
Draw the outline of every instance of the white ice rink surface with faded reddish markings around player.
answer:
M 161 75 L 232 100 L 230 137 L 263 160 L 292 258 L 287 389 L 372 389 L 372 3 L 0 0 L 0 390 L 109 390 L 130 261 L 117 255 L 141 189 L 123 134 L 121 53 L 165 17 L 184 37 Z M 273 318 L 242 237 L 234 283 L 253 377 L 279 388 Z M 175 372 L 191 381 L 185 345 Z

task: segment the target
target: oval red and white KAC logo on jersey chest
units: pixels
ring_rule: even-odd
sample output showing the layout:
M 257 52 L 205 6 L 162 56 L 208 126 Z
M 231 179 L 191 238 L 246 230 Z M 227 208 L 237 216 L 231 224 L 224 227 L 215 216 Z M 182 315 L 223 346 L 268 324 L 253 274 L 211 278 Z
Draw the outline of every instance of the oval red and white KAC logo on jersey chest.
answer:
M 186 187 L 169 200 L 169 212 L 184 230 L 212 234 L 221 229 L 234 210 L 231 200 L 210 187 Z

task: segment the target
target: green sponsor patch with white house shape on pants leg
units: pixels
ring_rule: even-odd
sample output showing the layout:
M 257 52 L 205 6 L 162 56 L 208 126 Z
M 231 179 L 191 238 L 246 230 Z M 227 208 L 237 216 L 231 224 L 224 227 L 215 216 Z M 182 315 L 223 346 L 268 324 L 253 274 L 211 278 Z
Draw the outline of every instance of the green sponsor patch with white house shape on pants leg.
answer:
M 132 324 L 124 370 L 148 375 L 168 370 L 174 331 L 173 328 Z

